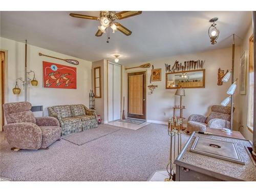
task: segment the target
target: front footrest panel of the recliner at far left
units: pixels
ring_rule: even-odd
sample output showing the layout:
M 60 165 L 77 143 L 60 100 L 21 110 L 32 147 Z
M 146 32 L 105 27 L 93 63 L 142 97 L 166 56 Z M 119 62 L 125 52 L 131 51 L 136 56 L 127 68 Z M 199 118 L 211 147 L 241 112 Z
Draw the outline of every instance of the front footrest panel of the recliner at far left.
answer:
M 42 131 L 41 148 L 46 148 L 60 138 L 61 128 L 59 126 L 39 126 Z

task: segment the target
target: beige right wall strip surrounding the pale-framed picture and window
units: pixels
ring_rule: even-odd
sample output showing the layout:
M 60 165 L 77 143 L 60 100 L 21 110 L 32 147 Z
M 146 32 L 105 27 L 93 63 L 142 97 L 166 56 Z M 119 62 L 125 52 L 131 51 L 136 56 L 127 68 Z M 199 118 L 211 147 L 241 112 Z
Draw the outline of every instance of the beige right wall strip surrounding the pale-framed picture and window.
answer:
M 242 45 L 240 46 L 240 57 L 247 50 L 249 51 L 249 38 L 252 35 L 252 24 L 247 30 L 246 35 L 243 38 Z M 248 55 L 247 58 L 249 59 Z M 249 60 L 247 59 L 247 88 L 248 88 L 248 72 L 249 72 Z M 238 77 L 239 78 L 239 77 Z M 239 89 L 237 90 L 239 92 Z M 248 89 L 246 95 L 240 95 L 238 98 L 239 102 L 239 120 L 240 120 L 240 131 L 246 139 L 252 140 L 252 133 L 247 129 L 247 110 L 248 110 Z

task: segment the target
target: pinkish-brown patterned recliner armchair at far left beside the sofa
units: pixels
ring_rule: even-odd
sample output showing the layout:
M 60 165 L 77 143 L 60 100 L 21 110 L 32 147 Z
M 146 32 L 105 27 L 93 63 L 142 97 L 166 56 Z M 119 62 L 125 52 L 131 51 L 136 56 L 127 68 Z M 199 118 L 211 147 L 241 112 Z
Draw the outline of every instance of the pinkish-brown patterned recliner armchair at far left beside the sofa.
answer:
M 34 117 L 29 102 L 5 103 L 6 139 L 12 149 L 38 150 L 60 139 L 61 127 L 54 117 Z

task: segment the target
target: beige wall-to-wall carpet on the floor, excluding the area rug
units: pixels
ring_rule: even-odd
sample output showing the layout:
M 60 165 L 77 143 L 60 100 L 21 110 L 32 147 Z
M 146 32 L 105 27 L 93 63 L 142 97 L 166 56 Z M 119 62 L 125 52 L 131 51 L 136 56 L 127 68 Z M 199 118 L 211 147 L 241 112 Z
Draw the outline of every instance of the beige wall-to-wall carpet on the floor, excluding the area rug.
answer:
M 14 181 L 146 181 L 156 170 L 165 169 L 169 156 L 166 125 L 118 129 L 83 145 L 61 139 L 44 151 L 14 152 L 1 140 L 0 176 Z M 187 138 L 184 135 L 183 142 Z

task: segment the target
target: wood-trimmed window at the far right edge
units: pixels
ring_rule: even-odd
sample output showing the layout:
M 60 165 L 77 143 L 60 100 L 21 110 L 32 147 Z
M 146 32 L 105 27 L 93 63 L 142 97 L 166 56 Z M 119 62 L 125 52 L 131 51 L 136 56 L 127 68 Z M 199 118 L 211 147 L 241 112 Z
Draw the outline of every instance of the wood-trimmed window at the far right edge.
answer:
M 248 114 L 247 127 L 253 130 L 253 36 L 249 38 L 249 83 L 248 83 Z

